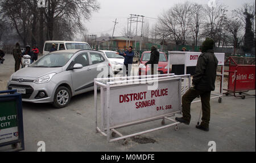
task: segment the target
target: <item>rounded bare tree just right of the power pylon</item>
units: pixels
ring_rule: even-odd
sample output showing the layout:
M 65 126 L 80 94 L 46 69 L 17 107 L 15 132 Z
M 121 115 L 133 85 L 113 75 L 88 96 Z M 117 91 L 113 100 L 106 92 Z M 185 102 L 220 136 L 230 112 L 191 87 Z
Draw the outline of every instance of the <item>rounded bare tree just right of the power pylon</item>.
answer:
M 189 35 L 189 21 L 191 15 L 191 4 L 185 2 L 176 4 L 168 11 L 159 16 L 158 33 L 164 33 L 169 39 L 176 42 L 176 45 L 184 45 Z

